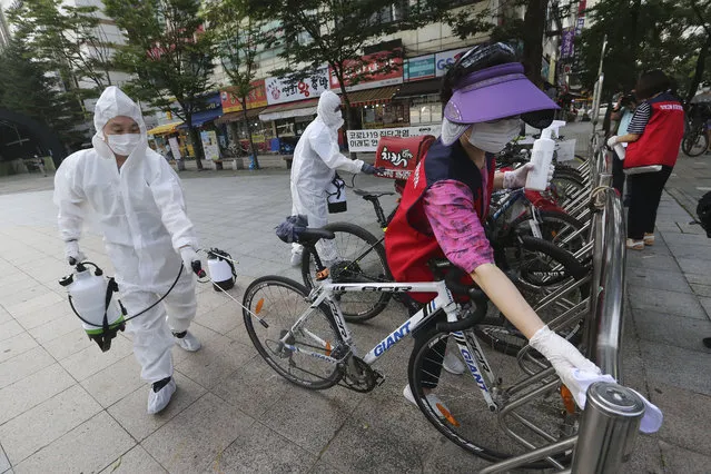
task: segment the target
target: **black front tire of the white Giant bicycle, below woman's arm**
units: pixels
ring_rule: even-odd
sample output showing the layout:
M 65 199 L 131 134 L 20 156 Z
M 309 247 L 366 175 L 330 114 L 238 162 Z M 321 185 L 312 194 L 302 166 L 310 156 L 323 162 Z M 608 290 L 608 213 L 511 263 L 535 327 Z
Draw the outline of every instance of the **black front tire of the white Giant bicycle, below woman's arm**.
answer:
M 471 334 L 471 330 L 465 329 L 461 334 Z M 407 376 L 417 407 L 425 415 L 425 418 L 447 440 L 481 458 L 497 462 L 523 454 L 526 448 L 517 443 L 512 443 L 511 437 L 501 429 L 498 416 L 496 413 L 491 412 L 482 396 L 478 381 L 471 373 L 453 375 L 446 371 L 441 371 L 438 377 L 435 377 L 437 386 L 433 391 L 442 402 L 442 405 L 446 407 L 445 413 L 441 414 L 440 407 L 429 405 L 429 401 L 423 392 L 422 376 L 427 374 L 429 377 L 434 377 L 435 374 L 429 371 L 432 368 L 431 365 L 424 365 L 431 364 L 431 357 L 436 344 L 451 336 L 448 333 L 433 328 L 415 339 L 407 366 Z M 450 344 L 450 349 L 452 348 L 457 348 L 457 346 Z M 482 347 L 482 350 L 485 352 L 492 369 L 498 372 L 496 376 L 502 376 L 502 383 L 504 381 L 514 383 L 520 379 L 521 373 L 515 358 L 488 352 L 485 347 Z M 494 399 L 497 401 L 498 408 L 502 408 L 502 404 L 505 402 L 497 398 L 496 394 L 500 392 L 492 391 L 491 386 L 487 388 Z M 551 402 L 544 401 L 544 403 L 549 405 L 551 403 L 555 404 L 555 408 L 550 411 L 550 413 L 541 411 L 541 415 L 550 417 L 549 423 L 555 423 L 554 418 L 559 418 L 562 403 L 555 399 Z M 546 425 L 546 427 L 549 426 Z M 561 462 L 566 462 L 567 458 L 569 456 L 564 455 L 556 456 L 556 460 Z M 534 462 L 525 467 L 542 468 L 547 466 L 550 465 L 544 462 Z

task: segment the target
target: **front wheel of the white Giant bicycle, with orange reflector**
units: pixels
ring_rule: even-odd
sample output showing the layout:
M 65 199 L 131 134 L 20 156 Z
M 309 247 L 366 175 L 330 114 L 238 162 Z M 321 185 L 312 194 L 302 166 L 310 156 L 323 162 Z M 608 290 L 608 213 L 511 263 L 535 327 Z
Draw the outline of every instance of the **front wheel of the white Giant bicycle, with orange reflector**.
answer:
M 472 329 L 460 333 L 466 338 L 475 337 Z M 481 382 L 472 374 L 453 375 L 446 371 L 438 371 L 437 359 L 444 357 L 441 352 L 442 340 L 450 339 L 447 350 L 458 353 L 458 346 L 448 333 L 432 329 L 415 340 L 408 364 L 408 379 L 413 396 L 417 406 L 427 421 L 434 425 L 450 441 L 465 451 L 487 461 L 501 461 L 511 456 L 523 454 L 527 450 L 513 442 L 498 425 L 498 416 L 493 413 L 485 402 Z M 488 381 L 486 387 L 494 403 L 501 409 L 507 403 L 507 394 L 500 389 L 517 382 L 521 372 L 514 357 L 498 354 L 482 347 L 488 366 L 500 381 L 497 389 Z M 467 353 L 473 350 L 467 349 Z M 461 354 L 460 354 L 461 356 Z M 434 369 L 434 371 L 433 371 Z M 477 374 L 478 375 L 478 374 Z M 432 387 L 435 385 L 435 387 Z M 424 388 L 429 386 L 429 388 Z M 425 392 L 428 393 L 425 393 Z M 436 395 L 427 398 L 428 394 Z M 433 406 L 434 405 L 434 406 Z M 531 405 L 522 407 L 521 413 L 535 421 L 554 436 L 563 437 L 572 435 L 576 428 L 570 419 L 561 417 L 564 406 L 557 393 L 547 393 L 532 401 Z M 519 422 L 510 424 L 512 428 L 521 429 Z M 530 464 L 526 467 L 544 467 L 543 463 Z

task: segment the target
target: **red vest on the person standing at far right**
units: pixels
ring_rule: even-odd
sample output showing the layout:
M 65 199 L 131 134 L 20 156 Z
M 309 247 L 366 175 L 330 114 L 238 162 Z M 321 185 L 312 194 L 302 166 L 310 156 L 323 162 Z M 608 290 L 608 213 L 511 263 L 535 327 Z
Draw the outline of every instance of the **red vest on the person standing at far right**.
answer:
M 672 95 L 663 92 L 653 99 L 652 116 L 640 139 L 628 145 L 624 168 L 662 165 L 673 167 L 684 135 L 684 109 Z

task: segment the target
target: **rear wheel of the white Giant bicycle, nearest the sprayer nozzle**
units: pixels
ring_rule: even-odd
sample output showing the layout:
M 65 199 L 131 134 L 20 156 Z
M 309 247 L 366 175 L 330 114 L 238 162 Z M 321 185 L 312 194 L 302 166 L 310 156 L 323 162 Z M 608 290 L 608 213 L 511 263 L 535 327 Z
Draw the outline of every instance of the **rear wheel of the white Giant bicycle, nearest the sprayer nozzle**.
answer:
M 289 278 L 257 278 L 245 292 L 243 316 L 251 343 L 277 374 L 304 388 L 323 389 L 338 383 L 343 376 L 338 366 L 282 344 L 288 334 L 287 343 L 299 349 L 330 355 L 342 347 L 338 328 L 326 305 L 312 308 L 306 322 L 293 332 L 294 324 L 309 309 L 307 296 L 308 290 Z M 255 324 L 247 309 L 269 327 Z

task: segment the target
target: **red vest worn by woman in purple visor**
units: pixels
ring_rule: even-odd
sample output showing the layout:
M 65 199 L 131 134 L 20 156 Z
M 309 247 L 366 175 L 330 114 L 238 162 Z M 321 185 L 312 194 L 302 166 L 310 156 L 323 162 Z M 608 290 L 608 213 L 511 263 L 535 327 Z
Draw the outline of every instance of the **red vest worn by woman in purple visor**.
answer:
M 485 221 L 494 186 L 495 157 L 487 155 L 486 164 L 488 179 L 483 195 L 480 169 L 458 142 L 445 147 L 437 139 L 429 148 L 427 156 L 407 179 L 401 204 L 385 233 L 387 264 L 396 282 L 433 282 L 434 275 L 427 261 L 432 258 L 445 258 L 429 228 L 423 206 L 425 191 L 432 185 L 447 179 L 465 184 L 474 196 L 473 210 L 482 223 Z M 417 302 L 427 303 L 434 294 L 418 293 L 411 296 Z

